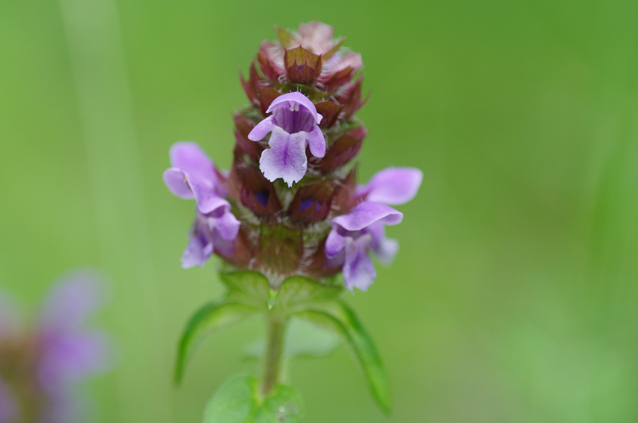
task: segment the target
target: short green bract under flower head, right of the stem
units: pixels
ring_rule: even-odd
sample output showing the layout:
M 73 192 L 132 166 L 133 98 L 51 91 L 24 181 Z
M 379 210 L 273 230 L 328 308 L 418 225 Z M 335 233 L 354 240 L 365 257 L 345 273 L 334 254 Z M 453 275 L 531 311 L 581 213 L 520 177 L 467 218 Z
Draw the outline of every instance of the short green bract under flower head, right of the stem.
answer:
M 340 286 L 325 286 L 308 277 L 291 276 L 281 283 L 276 301 L 284 310 L 295 312 L 311 303 L 335 299 L 342 291 Z

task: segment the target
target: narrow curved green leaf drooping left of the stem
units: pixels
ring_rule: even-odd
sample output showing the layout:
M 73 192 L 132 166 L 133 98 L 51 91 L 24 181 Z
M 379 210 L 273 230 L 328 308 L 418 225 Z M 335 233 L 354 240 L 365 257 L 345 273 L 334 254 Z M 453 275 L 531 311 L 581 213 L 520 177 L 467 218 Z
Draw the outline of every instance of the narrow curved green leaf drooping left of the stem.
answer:
M 175 365 L 175 383 L 181 382 L 186 363 L 206 336 L 219 328 L 246 318 L 255 311 L 257 310 L 253 307 L 228 300 L 208 303 L 196 311 L 186 325 L 181 335 L 181 340 L 179 340 L 177 363 Z

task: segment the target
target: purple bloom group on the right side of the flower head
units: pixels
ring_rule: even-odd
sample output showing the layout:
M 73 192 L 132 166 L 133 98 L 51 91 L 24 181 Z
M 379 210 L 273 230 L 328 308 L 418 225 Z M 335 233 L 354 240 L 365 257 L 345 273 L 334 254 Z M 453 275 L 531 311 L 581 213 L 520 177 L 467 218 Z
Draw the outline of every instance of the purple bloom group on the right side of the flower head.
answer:
M 398 243 L 385 236 L 384 225 L 401 223 L 403 214 L 386 204 L 403 204 L 416 195 L 422 173 L 415 168 L 387 168 L 376 173 L 355 195 L 365 201 L 348 214 L 332 219 L 325 255 L 335 266 L 343 266 L 346 287 L 366 291 L 376 271 L 368 255 L 374 251 L 381 262 L 396 255 Z M 386 204 L 382 204 L 386 203 Z

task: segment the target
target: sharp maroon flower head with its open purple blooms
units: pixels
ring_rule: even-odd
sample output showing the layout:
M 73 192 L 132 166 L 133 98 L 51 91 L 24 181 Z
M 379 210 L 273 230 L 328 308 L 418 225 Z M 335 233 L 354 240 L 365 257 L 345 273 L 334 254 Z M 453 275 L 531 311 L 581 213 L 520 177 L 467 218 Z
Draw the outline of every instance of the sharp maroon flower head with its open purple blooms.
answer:
M 171 149 L 169 190 L 197 203 L 182 266 L 213 254 L 240 269 L 282 278 L 315 279 L 342 272 L 349 289 L 365 290 L 370 259 L 391 260 L 398 243 L 385 226 L 403 214 L 388 204 L 412 199 L 422 174 L 388 168 L 357 186 L 354 163 L 367 130 L 353 117 L 362 107 L 361 55 L 342 47 L 332 27 L 276 28 L 263 42 L 242 86 L 250 105 L 235 112 L 235 149 L 227 174 L 194 143 Z M 279 179 L 284 183 L 279 183 Z

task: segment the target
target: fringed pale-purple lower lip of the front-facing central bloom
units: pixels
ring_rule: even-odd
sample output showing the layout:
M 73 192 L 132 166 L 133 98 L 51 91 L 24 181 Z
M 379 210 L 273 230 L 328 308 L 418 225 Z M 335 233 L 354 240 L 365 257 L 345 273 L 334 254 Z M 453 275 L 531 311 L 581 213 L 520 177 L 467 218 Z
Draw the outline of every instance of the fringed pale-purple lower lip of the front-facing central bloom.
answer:
M 266 179 L 283 178 L 289 187 L 293 182 L 299 182 L 308 168 L 305 134 L 298 132 L 291 135 L 274 127 L 269 144 L 270 148 L 265 149 L 259 159 L 259 169 Z

